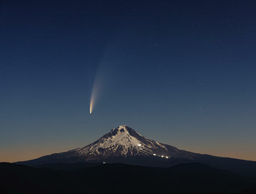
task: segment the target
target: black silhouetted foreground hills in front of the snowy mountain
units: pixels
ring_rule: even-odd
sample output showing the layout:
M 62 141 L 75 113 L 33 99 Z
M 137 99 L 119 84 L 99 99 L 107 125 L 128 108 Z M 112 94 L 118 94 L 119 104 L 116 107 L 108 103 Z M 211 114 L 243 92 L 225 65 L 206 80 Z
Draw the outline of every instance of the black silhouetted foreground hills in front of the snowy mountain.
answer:
M 254 183 L 252 178 L 199 163 L 171 168 L 88 163 L 33 168 L 0 163 L 0 171 L 1 191 L 6 194 L 237 193 L 252 190 Z

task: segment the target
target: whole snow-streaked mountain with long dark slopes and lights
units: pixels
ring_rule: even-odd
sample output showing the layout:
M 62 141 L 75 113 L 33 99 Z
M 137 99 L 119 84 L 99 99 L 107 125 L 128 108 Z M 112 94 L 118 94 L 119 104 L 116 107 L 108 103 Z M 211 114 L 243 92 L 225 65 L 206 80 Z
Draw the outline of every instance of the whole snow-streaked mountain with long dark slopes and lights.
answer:
M 256 161 L 216 157 L 179 150 L 140 135 L 127 125 L 120 125 L 88 146 L 34 160 L 15 162 L 29 166 L 47 163 L 107 162 L 142 166 L 170 167 L 200 162 L 241 175 L 256 174 Z

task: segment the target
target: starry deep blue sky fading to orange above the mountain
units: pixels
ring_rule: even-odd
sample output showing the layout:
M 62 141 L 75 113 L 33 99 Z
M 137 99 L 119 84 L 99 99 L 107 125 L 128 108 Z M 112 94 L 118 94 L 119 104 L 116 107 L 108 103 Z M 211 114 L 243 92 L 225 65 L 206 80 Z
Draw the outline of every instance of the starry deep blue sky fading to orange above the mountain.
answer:
M 256 160 L 255 1 L 0 6 L 0 162 L 83 147 L 121 124 Z

